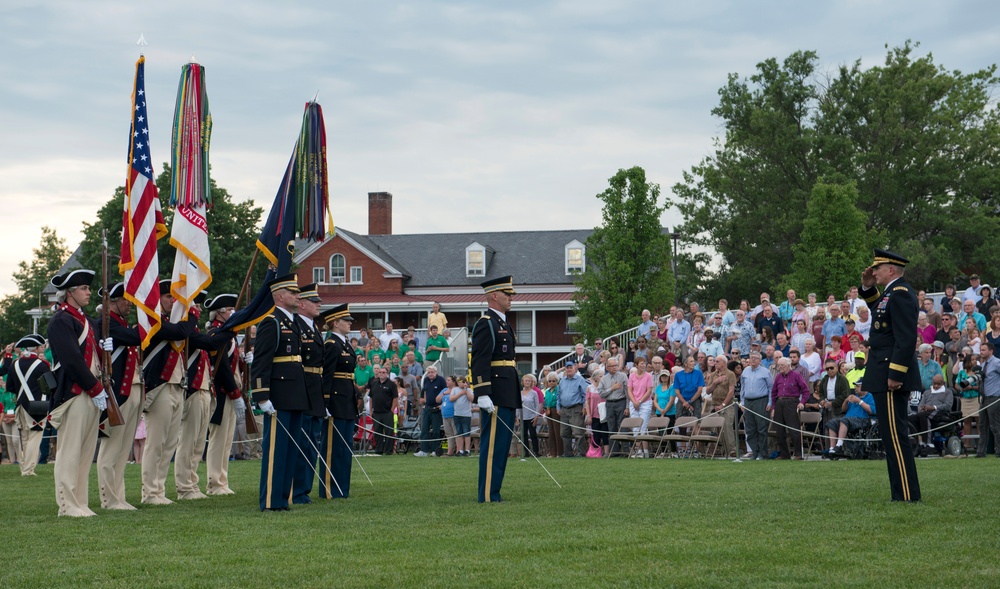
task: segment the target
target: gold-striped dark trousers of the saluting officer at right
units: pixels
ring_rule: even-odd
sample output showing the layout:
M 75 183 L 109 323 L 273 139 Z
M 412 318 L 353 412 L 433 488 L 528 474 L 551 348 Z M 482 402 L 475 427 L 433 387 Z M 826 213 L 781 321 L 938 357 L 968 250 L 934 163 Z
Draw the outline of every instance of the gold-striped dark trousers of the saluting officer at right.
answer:
M 893 501 L 920 501 L 920 482 L 917 481 L 917 465 L 910 447 L 910 424 L 906 417 L 906 407 L 910 393 L 898 390 L 888 393 L 872 393 L 875 397 L 875 415 L 878 418 L 878 433 L 885 448 L 885 463 L 889 470 L 889 487 Z

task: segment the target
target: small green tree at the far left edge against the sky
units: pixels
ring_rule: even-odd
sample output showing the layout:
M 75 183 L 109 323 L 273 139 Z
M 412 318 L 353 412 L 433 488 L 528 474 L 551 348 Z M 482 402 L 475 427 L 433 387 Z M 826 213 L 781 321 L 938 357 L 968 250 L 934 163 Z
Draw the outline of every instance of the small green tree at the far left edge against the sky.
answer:
M 70 256 L 66 240 L 51 227 L 42 227 L 41 242 L 32 253 L 34 258 L 31 262 L 22 260 L 17 264 L 13 275 L 17 293 L 0 300 L 0 342 L 17 341 L 31 332 L 33 321 L 26 311 L 49 304 L 48 299 L 42 296 L 42 290 Z M 38 331 L 44 335 L 47 325 L 46 315 L 39 322 Z

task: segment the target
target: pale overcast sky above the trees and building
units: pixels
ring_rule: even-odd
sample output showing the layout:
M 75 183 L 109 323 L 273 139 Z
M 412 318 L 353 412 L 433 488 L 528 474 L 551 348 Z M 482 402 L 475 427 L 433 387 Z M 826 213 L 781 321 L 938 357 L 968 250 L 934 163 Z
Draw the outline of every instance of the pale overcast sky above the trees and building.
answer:
M 710 153 L 730 72 L 800 49 L 824 71 L 871 66 L 907 39 L 971 72 L 1000 55 L 998 14 L 986 1 L 4 0 L 0 294 L 42 225 L 75 248 L 124 184 L 140 34 L 157 172 L 193 55 L 213 177 L 237 199 L 270 206 L 319 91 L 336 224 L 367 232 L 366 195 L 388 190 L 394 232 L 437 233 L 593 227 L 619 168 L 644 167 L 669 197 Z

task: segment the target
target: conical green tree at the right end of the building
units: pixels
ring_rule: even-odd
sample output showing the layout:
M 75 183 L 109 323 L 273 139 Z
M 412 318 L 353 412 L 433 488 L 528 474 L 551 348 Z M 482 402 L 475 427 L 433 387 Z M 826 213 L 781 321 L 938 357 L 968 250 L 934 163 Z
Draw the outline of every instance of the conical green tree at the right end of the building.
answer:
M 577 329 L 587 339 L 639 322 L 644 307 L 674 298 L 670 239 L 660 225 L 667 204 L 640 167 L 618 170 L 607 190 L 603 223 L 587 239 L 587 269 L 577 278 Z

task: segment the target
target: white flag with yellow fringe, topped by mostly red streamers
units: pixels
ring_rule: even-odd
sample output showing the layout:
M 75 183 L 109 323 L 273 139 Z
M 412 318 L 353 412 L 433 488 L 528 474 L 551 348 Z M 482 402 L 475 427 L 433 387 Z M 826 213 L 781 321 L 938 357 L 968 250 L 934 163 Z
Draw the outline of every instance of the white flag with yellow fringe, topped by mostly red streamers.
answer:
M 212 283 L 205 216 L 212 202 L 208 174 L 211 134 L 205 68 L 189 63 L 181 67 L 170 139 L 170 206 L 174 208 L 170 245 L 177 249 L 170 281 L 170 293 L 176 299 L 172 322 L 187 317 L 195 297 Z

